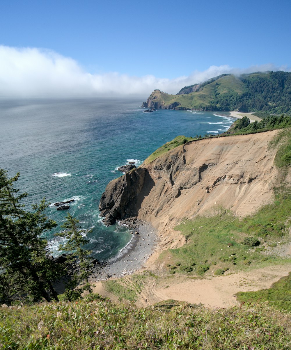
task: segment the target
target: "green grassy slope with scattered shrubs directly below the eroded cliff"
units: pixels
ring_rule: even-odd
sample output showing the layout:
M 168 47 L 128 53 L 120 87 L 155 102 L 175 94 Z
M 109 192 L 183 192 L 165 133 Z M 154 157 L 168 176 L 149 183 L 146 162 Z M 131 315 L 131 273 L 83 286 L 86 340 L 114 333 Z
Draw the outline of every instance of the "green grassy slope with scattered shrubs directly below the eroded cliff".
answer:
M 217 208 L 216 208 L 217 210 Z M 231 211 L 218 209 L 215 216 L 198 216 L 194 220 L 185 219 L 175 230 L 181 231 L 187 243 L 180 248 L 169 249 L 159 259 L 174 265 L 176 273 L 201 274 L 204 266 L 206 274 L 215 269 L 229 269 L 229 273 L 251 267 L 283 261 L 276 253 L 265 255 L 265 244 L 275 247 L 277 241 L 284 240 L 290 227 L 291 189 L 287 186 L 275 188 L 274 201 L 264 205 L 254 215 L 243 219 L 234 218 Z M 254 244 L 250 244 L 253 243 Z M 248 243 L 248 245 L 246 244 Z M 256 245 L 259 245 L 256 247 Z M 250 247 L 250 245 L 254 245 Z M 168 258 L 170 257 L 170 258 Z M 188 267 L 192 271 L 187 270 Z

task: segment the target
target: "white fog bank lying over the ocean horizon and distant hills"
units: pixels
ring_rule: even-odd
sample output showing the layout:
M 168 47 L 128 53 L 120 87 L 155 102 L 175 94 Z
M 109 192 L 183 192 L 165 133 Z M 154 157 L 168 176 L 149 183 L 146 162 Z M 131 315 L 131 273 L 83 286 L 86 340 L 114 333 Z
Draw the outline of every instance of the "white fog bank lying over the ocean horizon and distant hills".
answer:
M 189 76 L 174 79 L 129 76 L 116 72 L 90 74 L 72 58 L 51 50 L 13 48 L 0 45 L 1 97 L 76 97 L 143 94 L 154 89 L 177 93 L 183 86 L 200 83 L 223 73 L 250 73 L 266 70 L 287 70 L 272 64 L 236 69 L 229 65 L 210 66 Z

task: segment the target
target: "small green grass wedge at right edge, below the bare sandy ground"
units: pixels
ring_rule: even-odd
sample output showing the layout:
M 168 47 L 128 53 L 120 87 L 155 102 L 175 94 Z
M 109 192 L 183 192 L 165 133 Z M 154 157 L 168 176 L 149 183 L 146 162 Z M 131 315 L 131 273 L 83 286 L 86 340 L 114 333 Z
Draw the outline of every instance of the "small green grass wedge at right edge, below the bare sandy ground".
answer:
M 261 289 L 257 292 L 238 292 L 237 300 L 247 303 L 260 303 L 268 301 L 276 309 L 291 312 L 291 272 L 288 276 L 273 283 L 271 288 Z

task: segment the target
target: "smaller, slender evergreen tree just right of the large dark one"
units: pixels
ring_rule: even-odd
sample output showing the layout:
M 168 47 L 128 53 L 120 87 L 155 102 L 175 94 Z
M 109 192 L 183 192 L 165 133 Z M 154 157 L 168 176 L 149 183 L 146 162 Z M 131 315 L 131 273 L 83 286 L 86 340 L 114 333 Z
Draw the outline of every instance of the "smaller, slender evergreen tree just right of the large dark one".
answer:
M 92 264 L 90 262 L 91 251 L 84 249 L 84 245 L 89 243 L 89 239 L 85 237 L 88 230 L 83 230 L 81 226 L 78 225 L 79 220 L 72 217 L 69 213 L 66 219 L 67 220 L 61 226 L 65 230 L 56 233 L 56 236 L 67 239 L 64 245 L 60 245 L 59 250 L 70 252 L 70 254 L 67 255 L 66 261 L 66 270 L 70 274 L 70 279 L 67 282 L 64 294 L 69 301 L 72 301 L 79 299 L 85 290 L 91 293 L 92 289 L 88 278 L 91 274 Z M 75 265 L 76 261 L 78 261 L 77 266 Z M 70 273 L 72 266 L 74 266 L 74 272 Z

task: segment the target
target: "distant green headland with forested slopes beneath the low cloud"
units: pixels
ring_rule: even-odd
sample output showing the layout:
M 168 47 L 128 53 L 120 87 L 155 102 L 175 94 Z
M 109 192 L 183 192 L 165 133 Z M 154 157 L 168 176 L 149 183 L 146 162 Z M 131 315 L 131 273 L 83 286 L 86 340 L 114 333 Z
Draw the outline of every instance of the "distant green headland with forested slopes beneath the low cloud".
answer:
M 196 91 L 185 93 L 192 88 Z M 145 105 L 155 109 L 290 113 L 291 73 L 222 75 L 202 84 L 185 86 L 176 95 L 154 90 Z

